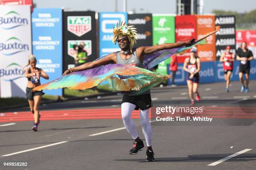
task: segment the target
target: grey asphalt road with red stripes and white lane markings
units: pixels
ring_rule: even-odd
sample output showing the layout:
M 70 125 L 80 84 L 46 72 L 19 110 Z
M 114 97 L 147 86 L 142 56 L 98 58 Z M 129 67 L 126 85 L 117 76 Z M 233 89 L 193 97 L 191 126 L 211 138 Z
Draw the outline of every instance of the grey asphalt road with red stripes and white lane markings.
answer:
M 239 83 L 232 82 L 226 93 L 224 83 L 202 84 L 202 100 L 196 106 L 253 117 L 256 81 L 250 87 L 250 92 L 241 93 Z M 157 87 L 151 96 L 154 107 L 189 105 L 186 86 Z M 28 107 L 1 111 L 5 116 L 0 117 L 0 170 L 255 170 L 254 122 L 236 126 L 152 122 L 156 162 L 145 162 L 146 150 L 129 155 L 133 140 L 120 118 L 121 98 L 114 95 L 41 105 L 38 132 L 30 130 L 33 117 Z M 144 140 L 138 112 L 133 118 Z M 4 166 L 14 162 L 27 166 Z

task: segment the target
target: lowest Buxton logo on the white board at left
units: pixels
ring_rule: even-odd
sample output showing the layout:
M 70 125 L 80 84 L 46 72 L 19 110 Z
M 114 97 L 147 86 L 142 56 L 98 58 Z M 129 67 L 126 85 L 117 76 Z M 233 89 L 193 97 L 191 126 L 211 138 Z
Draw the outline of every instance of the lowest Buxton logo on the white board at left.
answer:
M 3 77 L 5 81 L 13 81 L 24 77 L 25 70 L 21 69 L 21 66 L 15 62 L 8 65 L 5 69 L 0 69 L 0 77 Z

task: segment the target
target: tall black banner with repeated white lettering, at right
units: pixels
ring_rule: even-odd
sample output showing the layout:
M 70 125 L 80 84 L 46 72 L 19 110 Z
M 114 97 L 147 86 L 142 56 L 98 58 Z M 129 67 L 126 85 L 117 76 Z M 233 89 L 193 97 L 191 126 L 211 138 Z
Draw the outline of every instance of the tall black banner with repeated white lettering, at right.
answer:
M 230 46 L 230 52 L 236 54 L 236 18 L 234 15 L 215 16 L 215 26 L 220 26 L 216 32 L 216 60 L 225 52 L 226 46 Z

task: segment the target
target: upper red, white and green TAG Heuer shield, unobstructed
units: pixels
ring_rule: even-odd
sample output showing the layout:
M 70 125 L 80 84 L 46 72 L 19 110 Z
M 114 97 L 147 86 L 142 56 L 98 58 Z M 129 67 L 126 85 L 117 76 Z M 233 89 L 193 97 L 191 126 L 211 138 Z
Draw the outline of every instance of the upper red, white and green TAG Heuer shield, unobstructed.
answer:
M 92 30 L 91 16 L 69 16 L 67 23 L 68 30 L 79 37 Z

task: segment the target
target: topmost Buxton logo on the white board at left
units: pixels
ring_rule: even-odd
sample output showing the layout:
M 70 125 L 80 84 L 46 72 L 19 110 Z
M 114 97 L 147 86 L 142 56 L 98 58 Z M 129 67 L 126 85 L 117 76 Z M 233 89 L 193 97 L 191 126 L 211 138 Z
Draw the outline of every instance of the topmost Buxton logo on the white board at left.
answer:
M 20 14 L 15 11 L 6 13 L 0 17 L 0 27 L 5 30 L 10 30 L 20 26 L 28 25 L 28 19 L 20 17 Z

